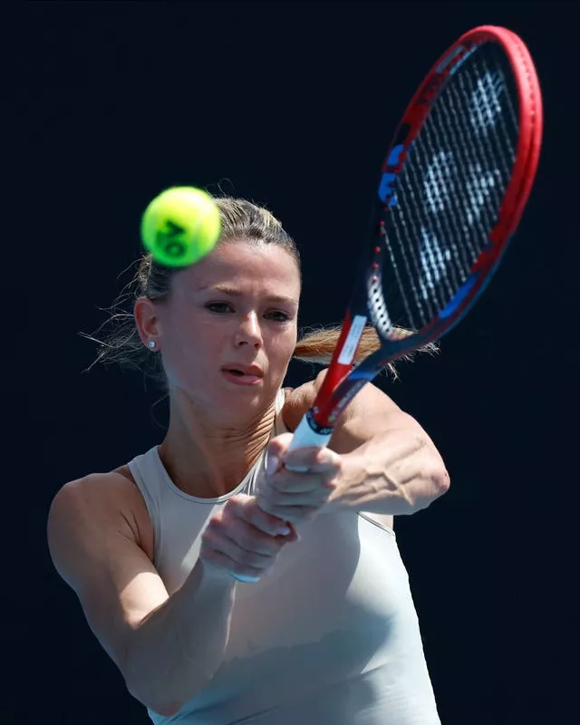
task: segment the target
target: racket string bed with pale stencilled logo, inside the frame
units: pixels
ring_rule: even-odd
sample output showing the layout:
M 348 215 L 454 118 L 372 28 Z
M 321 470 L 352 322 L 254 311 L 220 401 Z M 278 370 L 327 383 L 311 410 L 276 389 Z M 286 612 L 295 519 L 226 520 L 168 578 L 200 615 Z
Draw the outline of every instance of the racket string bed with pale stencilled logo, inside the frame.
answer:
M 485 43 L 450 76 L 395 181 L 372 290 L 382 333 L 429 324 L 465 284 L 498 223 L 517 137 L 511 68 Z

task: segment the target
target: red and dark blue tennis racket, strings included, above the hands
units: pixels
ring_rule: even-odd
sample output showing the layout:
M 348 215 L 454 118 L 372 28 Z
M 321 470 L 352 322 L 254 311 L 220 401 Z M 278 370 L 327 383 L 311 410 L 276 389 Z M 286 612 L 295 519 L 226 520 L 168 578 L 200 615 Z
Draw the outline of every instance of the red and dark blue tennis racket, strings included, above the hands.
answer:
M 290 449 L 324 447 L 365 383 L 468 313 L 516 231 L 541 140 L 541 91 L 525 43 L 491 25 L 463 34 L 394 134 L 342 333 Z M 353 364 L 368 324 L 381 347 Z M 401 328 L 412 332 L 401 337 Z

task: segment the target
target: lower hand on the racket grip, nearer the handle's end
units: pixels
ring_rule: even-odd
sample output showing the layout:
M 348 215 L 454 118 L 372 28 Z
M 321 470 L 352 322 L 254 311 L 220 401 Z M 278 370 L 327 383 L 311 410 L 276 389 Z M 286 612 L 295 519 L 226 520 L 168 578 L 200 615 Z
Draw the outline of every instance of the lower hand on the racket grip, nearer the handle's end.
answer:
M 282 548 L 298 539 L 294 527 L 259 508 L 256 497 L 237 494 L 210 518 L 199 558 L 239 581 L 256 582 L 272 568 Z

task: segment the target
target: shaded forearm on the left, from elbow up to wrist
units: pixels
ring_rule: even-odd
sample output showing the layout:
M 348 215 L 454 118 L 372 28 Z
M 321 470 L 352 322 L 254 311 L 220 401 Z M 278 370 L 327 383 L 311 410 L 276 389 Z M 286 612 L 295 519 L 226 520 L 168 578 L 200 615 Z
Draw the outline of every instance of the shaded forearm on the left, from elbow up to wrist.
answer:
M 230 576 L 208 575 L 199 560 L 140 623 L 123 667 L 133 697 L 170 715 L 208 684 L 226 649 L 235 586 Z

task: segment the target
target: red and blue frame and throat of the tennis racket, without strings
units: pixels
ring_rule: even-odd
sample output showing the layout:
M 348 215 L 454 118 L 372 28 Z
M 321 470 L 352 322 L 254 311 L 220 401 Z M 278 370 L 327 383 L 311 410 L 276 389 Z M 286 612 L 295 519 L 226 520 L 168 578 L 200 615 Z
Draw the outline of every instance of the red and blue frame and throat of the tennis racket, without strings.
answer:
M 382 338 L 382 349 L 372 353 L 354 370 L 352 364 L 339 362 L 344 343 L 352 329 L 354 315 L 365 314 L 368 317 L 368 311 L 362 310 L 362 304 L 366 306 L 366 288 L 369 280 L 372 279 L 374 266 L 377 265 L 378 255 L 381 253 L 382 238 L 379 225 L 379 228 L 374 230 L 377 234 L 374 242 L 376 245 L 374 255 L 363 270 L 364 279 L 357 280 L 355 295 L 345 315 L 343 330 L 333 353 L 333 359 L 321 389 L 318 391 L 313 408 L 304 418 L 304 423 L 307 419 L 308 427 L 316 435 L 329 437 L 334 421 L 346 404 L 352 400 L 365 382 L 372 380 L 388 362 L 396 359 L 401 353 L 410 352 L 412 349 L 438 339 L 442 333 L 448 332 L 454 324 L 459 322 L 469 306 L 474 303 L 478 293 L 484 288 L 492 270 L 498 265 L 509 237 L 517 228 L 536 176 L 543 132 L 543 110 L 541 89 L 531 55 L 526 44 L 517 34 L 507 28 L 495 25 L 481 25 L 474 28 L 461 35 L 459 40 L 453 43 L 433 64 L 430 73 L 426 75 L 412 97 L 395 131 L 391 147 L 382 165 L 382 175 L 394 175 L 396 178 L 396 175 L 401 172 L 411 144 L 418 136 L 430 113 L 432 103 L 437 99 L 449 79 L 449 75 L 453 69 L 459 67 L 467 59 L 470 53 L 477 49 L 479 44 L 487 42 L 499 43 L 511 65 L 519 98 L 519 138 L 512 176 L 498 212 L 498 223 L 489 233 L 488 246 L 481 252 L 472 267 L 473 284 L 452 312 L 436 315 L 431 323 L 421 329 L 419 333 L 414 333 L 410 338 L 402 340 Z M 393 193 L 394 189 L 391 187 L 382 198 L 384 202 L 383 216 L 389 213 L 389 203 Z M 364 301 L 362 301 L 362 295 L 364 295 Z M 300 442 L 300 439 L 303 441 L 312 439 L 305 425 L 300 428 L 300 431 L 296 430 L 296 433 L 300 432 L 300 435 L 292 447 L 305 444 L 314 445 L 314 442 Z

